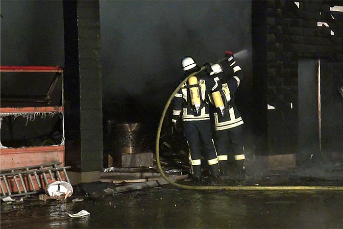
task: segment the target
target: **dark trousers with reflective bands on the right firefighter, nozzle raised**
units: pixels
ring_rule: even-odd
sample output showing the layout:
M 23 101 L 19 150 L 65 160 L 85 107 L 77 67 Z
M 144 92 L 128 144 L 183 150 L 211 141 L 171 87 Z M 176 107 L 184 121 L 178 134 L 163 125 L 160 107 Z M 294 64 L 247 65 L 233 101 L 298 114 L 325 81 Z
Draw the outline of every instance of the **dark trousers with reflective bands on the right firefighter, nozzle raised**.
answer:
M 236 165 L 238 172 L 244 170 L 243 125 L 216 131 L 216 148 L 221 174 L 228 170 L 228 162 Z

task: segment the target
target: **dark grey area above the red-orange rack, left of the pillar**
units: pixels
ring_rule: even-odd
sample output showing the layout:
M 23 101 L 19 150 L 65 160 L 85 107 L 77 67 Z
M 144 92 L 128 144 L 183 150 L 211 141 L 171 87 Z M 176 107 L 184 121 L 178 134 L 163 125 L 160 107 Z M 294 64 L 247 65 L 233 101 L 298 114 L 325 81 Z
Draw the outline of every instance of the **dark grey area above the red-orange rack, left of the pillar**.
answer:
M 0 3 L 1 65 L 63 66 L 62 1 Z

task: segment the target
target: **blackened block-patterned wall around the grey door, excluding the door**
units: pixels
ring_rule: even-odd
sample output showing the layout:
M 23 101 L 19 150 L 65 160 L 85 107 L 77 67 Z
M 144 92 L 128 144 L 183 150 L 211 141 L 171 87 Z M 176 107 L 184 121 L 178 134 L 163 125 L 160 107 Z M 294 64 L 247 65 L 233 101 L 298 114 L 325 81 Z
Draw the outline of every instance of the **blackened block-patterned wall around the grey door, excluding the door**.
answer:
M 261 10 L 261 5 L 263 10 Z M 268 145 L 269 154 L 298 151 L 298 61 L 299 58 L 321 60 L 321 146 L 323 152 L 343 151 L 343 101 L 338 88 L 343 85 L 343 13 L 330 7 L 342 1 L 253 1 L 253 25 L 260 25 L 261 34 L 253 36 L 255 77 L 264 80 L 257 120 L 268 123 L 261 145 Z M 261 15 L 260 15 L 261 12 Z M 329 25 L 318 26 L 318 22 Z M 331 31 L 334 32 L 332 35 Z M 263 52 L 267 46 L 267 52 Z M 261 62 L 260 58 L 267 59 Z M 292 106 L 291 106 L 292 103 Z M 256 125 L 258 129 L 258 125 Z

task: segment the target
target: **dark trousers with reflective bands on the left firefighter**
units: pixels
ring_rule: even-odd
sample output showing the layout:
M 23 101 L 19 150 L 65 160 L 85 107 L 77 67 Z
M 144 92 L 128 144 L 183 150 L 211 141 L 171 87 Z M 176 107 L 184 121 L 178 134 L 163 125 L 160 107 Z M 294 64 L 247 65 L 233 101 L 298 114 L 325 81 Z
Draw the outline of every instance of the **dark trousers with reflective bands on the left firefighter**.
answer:
M 210 120 L 183 122 L 183 128 L 190 149 L 189 162 L 192 166 L 193 177 L 200 178 L 201 176 L 200 145 L 203 147 L 212 176 L 218 176 L 218 156 L 212 138 Z

